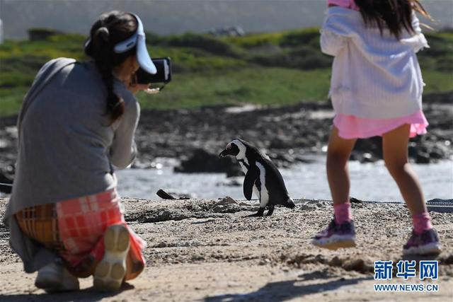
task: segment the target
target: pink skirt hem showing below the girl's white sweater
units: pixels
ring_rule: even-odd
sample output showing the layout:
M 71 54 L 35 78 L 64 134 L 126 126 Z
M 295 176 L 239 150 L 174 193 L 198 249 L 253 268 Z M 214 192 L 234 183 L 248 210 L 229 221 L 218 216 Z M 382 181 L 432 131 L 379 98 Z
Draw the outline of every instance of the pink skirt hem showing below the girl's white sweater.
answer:
M 426 127 L 428 127 L 428 121 L 422 110 L 406 117 L 379 120 L 339 114 L 333 118 L 333 124 L 338 128 L 338 135 L 343 139 L 381 137 L 382 134 L 396 129 L 403 124 L 411 124 L 409 137 L 415 137 L 417 134 L 425 134 Z

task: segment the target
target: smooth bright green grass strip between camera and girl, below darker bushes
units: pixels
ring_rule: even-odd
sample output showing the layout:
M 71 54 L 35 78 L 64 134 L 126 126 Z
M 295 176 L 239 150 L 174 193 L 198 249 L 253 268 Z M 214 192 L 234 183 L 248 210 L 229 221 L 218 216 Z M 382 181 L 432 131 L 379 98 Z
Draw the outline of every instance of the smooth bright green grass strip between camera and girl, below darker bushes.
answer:
M 328 71 L 323 69 L 264 67 L 230 69 L 222 74 L 212 71 L 198 76 L 179 74 L 162 93 L 138 96 L 142 108 L 157 109 L 241 103 L 284 105 L 325 100 L 328 76 Z

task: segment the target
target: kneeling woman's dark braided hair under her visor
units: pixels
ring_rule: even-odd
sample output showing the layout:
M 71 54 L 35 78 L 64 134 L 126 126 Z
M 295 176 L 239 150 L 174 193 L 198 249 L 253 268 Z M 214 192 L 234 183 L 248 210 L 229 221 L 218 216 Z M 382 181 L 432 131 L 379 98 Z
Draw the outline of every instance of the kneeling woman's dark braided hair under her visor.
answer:
M 113 68 L 136 53 L 136 47 L 121 54 L 115 53 L 113 47 L 134 35 L 136 30 L 137 20 L 130 13 L 103 13 L 91 27 L 91 42 L 85 47 L 85 53 L 94 59 L 107 88 L 107 114 L 112 122 L 125 112 L 124 101 L 113 91 Z

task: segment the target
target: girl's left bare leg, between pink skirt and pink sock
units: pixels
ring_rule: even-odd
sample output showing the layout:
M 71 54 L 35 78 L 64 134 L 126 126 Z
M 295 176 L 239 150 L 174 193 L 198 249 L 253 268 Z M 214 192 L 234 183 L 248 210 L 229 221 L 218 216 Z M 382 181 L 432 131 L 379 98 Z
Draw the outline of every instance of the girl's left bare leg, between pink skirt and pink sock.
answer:
M 356 139 L 342 139 L 337 127 L 333 126 L 327 150 L 327 178 L 331 188 L 333 204 L 349 201 L 350 179 L 348 160 Z

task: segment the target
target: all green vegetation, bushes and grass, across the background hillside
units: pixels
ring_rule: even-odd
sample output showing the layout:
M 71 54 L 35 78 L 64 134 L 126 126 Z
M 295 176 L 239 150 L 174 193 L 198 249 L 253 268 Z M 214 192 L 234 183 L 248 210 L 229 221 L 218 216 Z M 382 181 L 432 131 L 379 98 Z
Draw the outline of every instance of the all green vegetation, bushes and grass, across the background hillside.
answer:
M 0 116 L 13 115 L 42 64 L 86 59 L 85 37 L 38 29 L 33 41 L 0 45 Z M 453 91 L 453 33 L 427 35 L 419 59 L 427 93 Z M 142 108 L 196 108 L 239 103 L 290 104 L 326 100 L 332 58 L 319 51 L 319 28 L 245 37 L 148 33 L 153 57 L 173 59 L 173 81 L 159 95 L 139 93 Z

